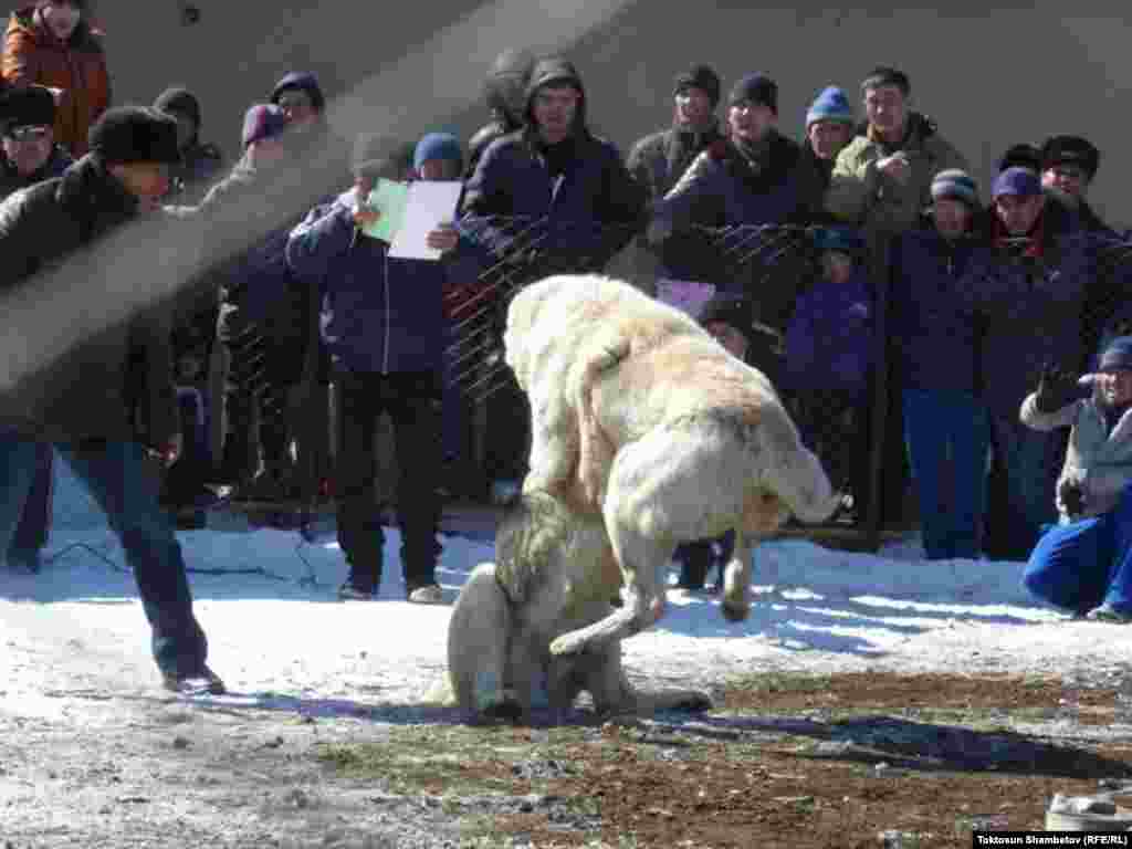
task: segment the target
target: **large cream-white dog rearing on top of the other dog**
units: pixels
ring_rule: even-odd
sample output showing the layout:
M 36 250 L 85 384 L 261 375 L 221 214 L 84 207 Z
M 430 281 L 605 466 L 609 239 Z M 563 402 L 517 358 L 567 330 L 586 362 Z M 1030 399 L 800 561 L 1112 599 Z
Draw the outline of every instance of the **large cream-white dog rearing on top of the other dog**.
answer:
M 531 404 L 524 491 L 602 517 L 626 603 L 558 636 L 559 655 L 601 652 L 664 614 L 676 546 L 736 531 L 721 609 L 751 609 L 751 551 L 839 497 L 774 387 L 691 317 L 608 277 L 559 275 L 520 292 L 507 365 Z

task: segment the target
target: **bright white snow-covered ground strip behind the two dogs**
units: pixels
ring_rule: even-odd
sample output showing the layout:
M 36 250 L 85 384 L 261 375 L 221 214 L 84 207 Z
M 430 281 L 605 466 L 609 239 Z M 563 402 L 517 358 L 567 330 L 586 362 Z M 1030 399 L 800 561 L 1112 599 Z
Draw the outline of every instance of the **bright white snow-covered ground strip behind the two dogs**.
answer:
M 65 694 L 152 691 L 156 670 L 132 577 L 97 509 L 65 464 L 38 575 L 0 569 L 0 713 L 50 717 Z M 234 520 L 229 520 L 234 524 Z M 305 704 L 412 704 L 439 679 L 451 607 L 406 603 L 388 533 L 381 598 L 338 602 L 333 541 L 237 528 L 182 532 L 213 668 L 238 694 Z M 439 578 L 454 598 L 490 543 L 444 539 Z M 74 546 L 68 550 L 68 547 Z M 109 560 L 109 563 L 108 563 Z M 919 559 L 910 540 L 880 556 L 805 541 L 755 554 L 756 604 L 741 624 L 710 597 L 670 592 L 669 615 L 625 643 L 634 678 L 719 684 L 772 668 L 815 671 L 1049 672 L 1114 669 L 1132 627 L 1069 621 L 1029 599 L 1022 564 Z

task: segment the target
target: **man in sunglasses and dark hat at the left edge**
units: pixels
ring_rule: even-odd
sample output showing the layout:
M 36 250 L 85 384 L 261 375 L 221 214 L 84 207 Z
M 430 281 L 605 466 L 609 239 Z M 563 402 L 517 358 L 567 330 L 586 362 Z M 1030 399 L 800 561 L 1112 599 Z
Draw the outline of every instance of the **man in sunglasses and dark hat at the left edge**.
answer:
M 71 164 L 55 144 L 55 100 L 43 86 L 0 95 L 0 200 L 17 189 L 59 177 Z

